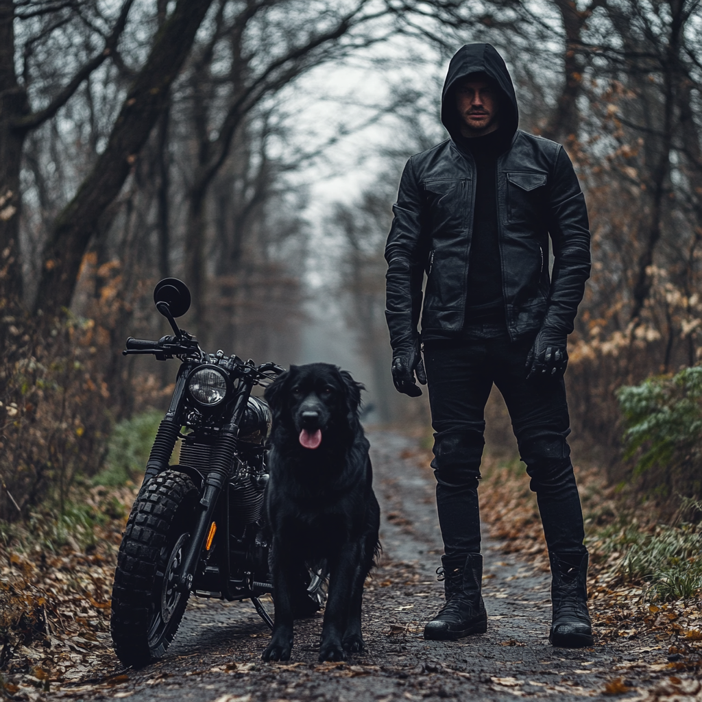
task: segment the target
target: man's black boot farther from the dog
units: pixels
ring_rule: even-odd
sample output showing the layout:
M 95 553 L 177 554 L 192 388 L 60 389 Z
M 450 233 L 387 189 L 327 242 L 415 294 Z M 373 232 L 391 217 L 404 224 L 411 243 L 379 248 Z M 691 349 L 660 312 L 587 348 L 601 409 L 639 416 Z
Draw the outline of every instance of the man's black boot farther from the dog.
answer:
M 554 646 L 569 649 L 592 646 L 592 622 L 588 614 L 588 554 L 549 552 L 549 557 L 553 620 L 548 640 Z

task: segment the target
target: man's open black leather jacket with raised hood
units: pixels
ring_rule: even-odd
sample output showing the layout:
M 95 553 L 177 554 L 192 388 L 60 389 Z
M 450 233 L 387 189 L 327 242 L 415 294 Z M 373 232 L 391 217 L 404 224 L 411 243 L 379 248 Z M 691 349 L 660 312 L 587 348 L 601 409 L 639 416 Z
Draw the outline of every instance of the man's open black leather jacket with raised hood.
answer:
M 544 327 L 566 336 L 590 276 L 585 198 L 571 161 L 555 142 L 517 129 L 517 98 L 501 55 L 468 44 L 451 59 L 442 93 L 450 139 L 411 157 L 402 173 L 385 246 L 385 317 L 393 349 L 461 333 L 475 206 L 475 161 L 461 148 L 456 81 L 486 73 L 504 93 L 500 129 L 512 134 L 497 161 L 497 220 L 505 324 L 515 340 Z M 554 264 L 548 272 L 548 237 Z M 424 273 L 427 283 L 422 305 Z

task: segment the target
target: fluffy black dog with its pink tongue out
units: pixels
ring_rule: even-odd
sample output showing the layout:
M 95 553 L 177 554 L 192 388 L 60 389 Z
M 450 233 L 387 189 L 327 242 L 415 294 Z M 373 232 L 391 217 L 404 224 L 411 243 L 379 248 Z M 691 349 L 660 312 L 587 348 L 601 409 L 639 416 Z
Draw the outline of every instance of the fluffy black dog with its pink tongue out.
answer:
M 380 508 L 359 422 L 363 385 L 326 363 L 291 366 L 265 391 L 273 413 L 266 508 L 273 535 L 275 626 L 265 661 L 287 661 L 301 567 L 326 562 L 320 661 L 364 648 L 363 583 L 378 551 Z

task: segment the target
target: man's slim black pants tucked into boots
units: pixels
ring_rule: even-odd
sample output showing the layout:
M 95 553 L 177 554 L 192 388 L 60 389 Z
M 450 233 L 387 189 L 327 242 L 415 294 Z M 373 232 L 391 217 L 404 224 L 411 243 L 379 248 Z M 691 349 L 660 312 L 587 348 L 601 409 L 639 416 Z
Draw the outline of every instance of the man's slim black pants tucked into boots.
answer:
M 445 558 L 480 551 L 477 486 L 484 446 L 484 409 L 495 383 L 505 399 L 536 492 L 548 548 L 585 553 L 583 510 L 566 437 L 570 433 L 562 378 L 527 380 L 531 337 L 428 340 L 424 345 L 434 435 L 439 524 Z

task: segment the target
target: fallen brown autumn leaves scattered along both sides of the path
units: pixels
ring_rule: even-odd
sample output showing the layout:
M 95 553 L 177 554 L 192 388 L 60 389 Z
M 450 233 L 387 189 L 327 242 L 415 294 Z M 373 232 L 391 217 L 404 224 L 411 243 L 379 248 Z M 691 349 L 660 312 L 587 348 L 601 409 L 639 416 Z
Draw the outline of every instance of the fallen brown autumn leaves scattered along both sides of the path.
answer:
M 428 466 L 425 452 L 413 454 Z M 427 468 L 427 470 L 429 470 Z M 491 535 L 498 538 L 505 553 L 519 553 L 529 564 L 529 570 L 548 571 L 548 553 L 543 541 L 541 519 L 534 494 L 528 489 L 523 467 L 498 465 L 486 461 L 486 482 L 489 489 L 481 494 L 481 511 Z M 608 696 L 627 694 L 630 687 L 625 673 L 632 668 L 646 668 L 654 676 L 663 676 L 635 699 L 642 702 L 673 702 L 691 700 L 702 702 L 701 687 L 696 680 L 701 670 L 702 607 L 700 593 L 685 599 L 651 600 L 645 578 L 627 574 L 622 564 L 625 544 L 622 543 L 614 491 L 604 485 L 596 470 L 578 471 L 578 484 L 583 498 L 588 524 L 588 548 L 591 553 L 589 592 L 590 610 L 595 626 L 597 646 L 644 640 L 652 635 L 655 645 L 629 649 L 630 653 L 657 654 L 665 662 L 621 661 L 614 666 L 613 677 L 600 690 Z M 53 551 L 31 545 L 32 539 L 15 539 L 0 550 L 0 696 L 44 699 L 46 693 L 72 691 L 79 694 L 88 689 L 111 689 L 111 696 L 129 696 L 119 686 L 129 677 L 120 673 L 110 641 L 110 591 L 117 560 L 117 549 L 126 514 L 135 497 L 133 486 L 121 489 L 94 488 L 86 500 L 110 518 L 95 524 L 91 544 L 86 548 L 79 539 L 66 539 L 61 548 Z M 119 509 L 115 508 L 119 505 Z M 657 525 L 635 523 L 641 532 L 654 534 Z M 631 523 L 628 524 L 631 528 Z M 617 529 L 619 531 L 617 532 Z M 620 541 L 617 541 L 620 538 Z M 613 546 L 614 544 L 614 546 Z M 488 577 L 490 574 L 488 574 Z M 517 575 L 519 577 L 519 575 Z M 386 588 L 400 578 L 406 584 L 418 576 L 410 570 L 385 576 L 376 587 Z M 369 591 L 373 586 L 369 587 Z M 413 604 L 396 607 L 398 611 L 411 610 Z M 390 625 L 388 637 L 403 637 L 420 631 L 410 625 Z M 519 646 L 513 640 L 498 642 L 500 646 Z M 300 670 L 306 664 L 277 665 L 279 670 Z M 309 666 L 307 666 L 309 667 Z M 420 671 L 434 674 L 435 670 Z M 442 665 L 438 665 L 437 672 Z M 246 675 L 255 671 L 254 663 L 232 663 L 204 671 L 190 671 L 190 675 L 219 672 Z M 312 673 L 335 677 L 373 675 L 384 666 L 323 664 L 311 668 Z M 112 671 L 112 675 L 105 675 Z M 620 675 L 616 675 L 617 672 Z M 591 673 L 592 670 L 574 670 Z M 445 668 L 447 675 L 470 679 L 470 673 Z M 624 675 L 622 675 L 624 673 Z M 157 673 L 148 681 L 154 685 L 164 682 L 168 673 Z M 697 684 L 695 684 L 697 683 Z M 534 694 L 548 689 L 550 694 L 567 691 L 569 694 L 592 694 L 576 685 L 563 687 L 536 681 L 519 681 L 510 677 L 491 678 L 491 686 L 510 691 L 517 696 Z M 559 690 L 559 688 L 562 688 Z M 244 702 L 246 696 L 224 696 L 227 702 Z M 218 699 L 218 702 L 220 700 Z

